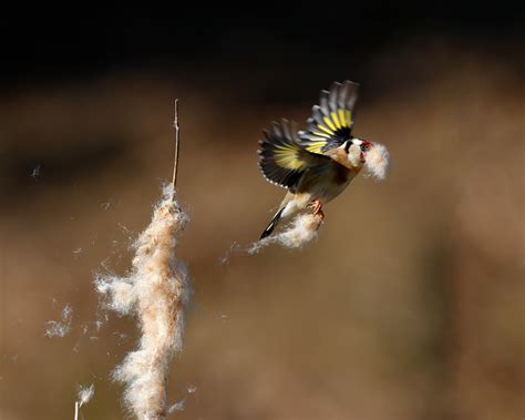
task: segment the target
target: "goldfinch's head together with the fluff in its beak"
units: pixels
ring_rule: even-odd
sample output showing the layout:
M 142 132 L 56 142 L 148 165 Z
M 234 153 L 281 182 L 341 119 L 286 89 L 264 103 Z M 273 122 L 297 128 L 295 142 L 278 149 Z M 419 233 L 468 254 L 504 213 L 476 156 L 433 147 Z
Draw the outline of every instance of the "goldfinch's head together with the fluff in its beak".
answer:
M 364 166 L 369 175 L 384 180 L 390 156 L 387 147 L 382 144 L 352 137 L 347 140 L 341 147 L 353 167 L 361 170 Z

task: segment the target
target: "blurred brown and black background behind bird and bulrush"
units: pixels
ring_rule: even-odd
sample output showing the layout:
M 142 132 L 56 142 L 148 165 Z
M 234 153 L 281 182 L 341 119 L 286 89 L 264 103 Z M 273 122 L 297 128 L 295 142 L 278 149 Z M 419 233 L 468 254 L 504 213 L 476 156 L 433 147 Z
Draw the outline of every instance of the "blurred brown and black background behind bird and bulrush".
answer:
M 179 98 L 195 296 L 173 418 L 523 419 L 523 10 L 173 8 L 2 17 L 0 418 L 70 419 L 90 383 L 85 419 L 125 417 L 110 373 L 136 326 L 92 280 L 130 267 Z M 354 180 L 305 249 L 229 254 L 284 194 L 261 129 L 344 79 L 388 180 Z M 71 331 L 45 337 L 65 305 Z

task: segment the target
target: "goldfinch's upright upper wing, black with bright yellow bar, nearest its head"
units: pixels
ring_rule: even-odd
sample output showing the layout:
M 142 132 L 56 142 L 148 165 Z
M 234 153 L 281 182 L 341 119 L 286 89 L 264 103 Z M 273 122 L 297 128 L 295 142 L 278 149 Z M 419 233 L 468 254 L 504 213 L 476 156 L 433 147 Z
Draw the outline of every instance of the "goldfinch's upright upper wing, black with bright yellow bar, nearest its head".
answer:
M 330 91 L 321 91 L 319 105 L 311 109 L 308 130 L 299 132 L 303 146 L 312 153 L 325 153 L 351 139 L 353 107 L 359 84 L 334 82 Z

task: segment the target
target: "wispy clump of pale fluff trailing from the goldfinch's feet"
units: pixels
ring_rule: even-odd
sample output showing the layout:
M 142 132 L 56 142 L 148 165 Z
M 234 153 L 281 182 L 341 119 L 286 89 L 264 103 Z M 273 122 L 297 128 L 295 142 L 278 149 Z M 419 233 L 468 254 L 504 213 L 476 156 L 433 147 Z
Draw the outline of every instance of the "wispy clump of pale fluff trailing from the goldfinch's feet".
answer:
M 285 248 L 300 248 L 317 237 L 317 232 L 322 224 L 320 214 L 301 213 L 281 232 L 257 240 L 249 248 L 249 254 L 257 254 L 261 248 L 278 244 Z

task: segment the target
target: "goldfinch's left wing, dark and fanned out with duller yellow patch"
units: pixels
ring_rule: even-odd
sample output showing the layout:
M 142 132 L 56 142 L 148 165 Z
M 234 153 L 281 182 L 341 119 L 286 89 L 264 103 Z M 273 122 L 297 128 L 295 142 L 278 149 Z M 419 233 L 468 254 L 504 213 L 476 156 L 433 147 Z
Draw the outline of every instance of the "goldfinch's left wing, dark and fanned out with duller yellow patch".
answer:
M 331 165 L 330 157 L 308 152 L 301 145 L 297 130 L 287 120 L 272 123 L 265 136 L 259 143 L 259 167 L 272 184 L 294 191 L 307 170 Z

